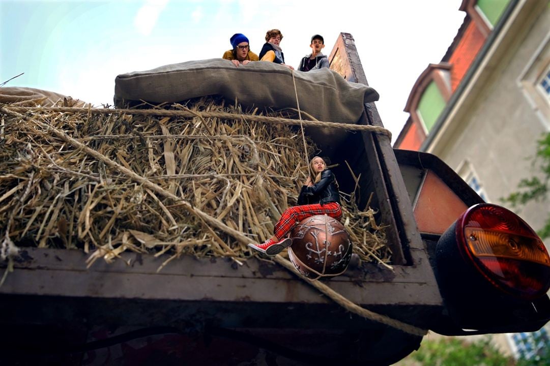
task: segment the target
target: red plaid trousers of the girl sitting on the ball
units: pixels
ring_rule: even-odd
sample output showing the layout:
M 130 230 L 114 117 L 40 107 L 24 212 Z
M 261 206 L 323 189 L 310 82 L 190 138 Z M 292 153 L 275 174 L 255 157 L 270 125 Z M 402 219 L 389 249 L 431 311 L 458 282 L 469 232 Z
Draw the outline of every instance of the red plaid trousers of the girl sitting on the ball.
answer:
M 284 210 L 281 218 L 277 221 L 277 224 L 275 224 L 273 234 L 277 236 L 277 239 L 283 239 L 283 237 L 286 237 L 290 233 L 290 230 L 294 228 L 294 225 L 301 220 L 310 216 L 324 214 L 339 220 L 342 218 L 342 208 L 337 202 L 325 203 L 322 206 L 315 203 L 289 207 Z

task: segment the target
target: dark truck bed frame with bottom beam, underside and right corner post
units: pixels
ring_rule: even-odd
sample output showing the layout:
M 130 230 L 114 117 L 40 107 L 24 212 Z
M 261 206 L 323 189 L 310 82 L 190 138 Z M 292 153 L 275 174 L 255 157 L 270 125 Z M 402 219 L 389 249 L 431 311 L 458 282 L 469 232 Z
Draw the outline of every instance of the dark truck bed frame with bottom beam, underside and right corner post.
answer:
M 346 80 L 368 85 L 351 35 L 340 34 L 329 61 Z M 357 124 L 383 127 L 374 103 L 365 104 Z M 394 151 L 389 138 L 366 131 L 337 132 L 330 141 L 316 127 L 307 127 L 306 134 L 333 160 L 345 156 L 351 170 L 361 172 L 359 186 L 366 193 L 357 205 L 364 207 L 367 192 L 374 192 L 371 206 L 387 225 L 393 253 L 393 270 L 360 263 L 321 280 L 324 284 L 372 312 L 443 335 L 534 331 L 550 319 L 547 295 L 502 303 L 502 297 L 480 295 L 475 286 L 464 303 L 442 295 L 436 260 L 442 232 L 423 230 L 430 226 L 425 223 L 443 217 L 441 225 L 448 226 L 457 212 L 483 201 L 441 160 Z M 342 177 L 342 190 L 350 191 L 355 181 L 344 169 L 334 173 Z M 445 201 L 452 202 L 434 197 L 450 208 L 424 217 L 422 226 L 415 203 L 428 172 L 452 192 Z M 422 340 L 349 312 L 277 263 L 184 257 L 157 273 L 166 257 L 123 253 L 122 259 L 97 261 L 88 269 L 81 251 L 21 248 L 0 287 L 0 324 L 6 330 L 0 350 L 8 361 L 101 364 L 106 352 L 128 359 L 130 348 L 135 353 L 148 347 L 136 364 L 164 359 L 164 364 L 388 365 Z M 485 297 L 501 302 L 487 309 L 491 315 L 462 310 Z M 138 339 L 147 339 L 147 346 L 132 343 Z M 166 358 L 151 350 L 162 350 Z

